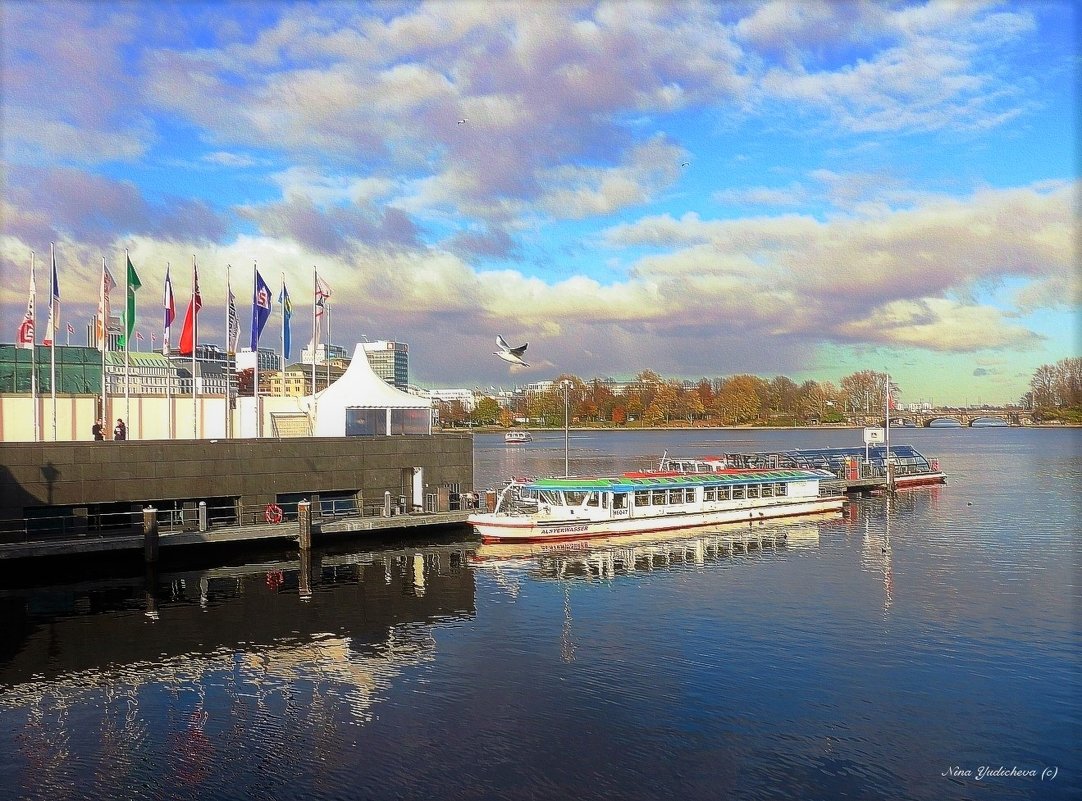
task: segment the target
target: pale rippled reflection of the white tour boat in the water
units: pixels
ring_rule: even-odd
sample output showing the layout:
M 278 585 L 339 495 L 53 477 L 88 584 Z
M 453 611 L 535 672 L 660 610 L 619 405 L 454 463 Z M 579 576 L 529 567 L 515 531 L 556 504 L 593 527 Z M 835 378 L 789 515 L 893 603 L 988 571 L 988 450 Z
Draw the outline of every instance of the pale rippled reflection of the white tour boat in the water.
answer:
M 515 574 L 543 579 L 612 579 L 702 566 L 754 551 L 817 547 L 820 525 L 836 520 L 836 514 L 821 514 L 788 523 L 695 528 L 683 536 L 665 531 L 566 542 L 481 544 L 471 554 L 470 564 L 491 570 L 500 585 L 517 594 L 517 585 L 511 580 Z

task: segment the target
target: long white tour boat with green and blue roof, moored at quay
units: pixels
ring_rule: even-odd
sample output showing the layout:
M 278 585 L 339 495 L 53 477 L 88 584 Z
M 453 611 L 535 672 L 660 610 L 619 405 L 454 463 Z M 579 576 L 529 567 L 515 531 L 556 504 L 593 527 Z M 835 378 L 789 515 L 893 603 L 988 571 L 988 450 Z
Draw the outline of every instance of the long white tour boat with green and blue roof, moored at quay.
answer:
M 669 531 L 767 517 L 841 512 L 822 470 L 643 472 L 514 480 L 491 511 L 470 515 L 481 542 L 542 542 Z

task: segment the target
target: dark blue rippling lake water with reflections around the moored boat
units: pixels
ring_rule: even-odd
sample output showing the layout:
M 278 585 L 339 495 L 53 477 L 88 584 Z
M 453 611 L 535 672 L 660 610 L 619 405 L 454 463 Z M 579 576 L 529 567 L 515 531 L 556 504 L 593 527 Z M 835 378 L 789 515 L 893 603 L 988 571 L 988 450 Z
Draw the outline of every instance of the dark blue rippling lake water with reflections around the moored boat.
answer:
M 23 580 L 0 590 L 0 798 L 1078 798 L 1080 432 L 893 434 L 949 484 L 747 553 L 481 562 L 463 536 L 324 549 L 311 580 L 288 552 Z M 568 457 L 855 439 L 572 432 Z M 563 432 L 475 454 L 478 487 L 564 471 Z M 1037 775 L 977 778 L 1000 767 Z

